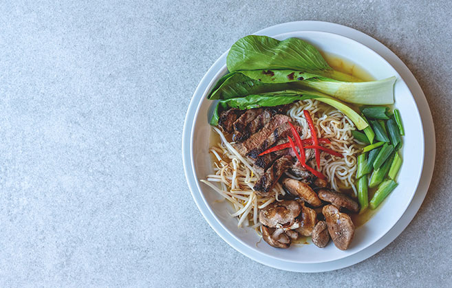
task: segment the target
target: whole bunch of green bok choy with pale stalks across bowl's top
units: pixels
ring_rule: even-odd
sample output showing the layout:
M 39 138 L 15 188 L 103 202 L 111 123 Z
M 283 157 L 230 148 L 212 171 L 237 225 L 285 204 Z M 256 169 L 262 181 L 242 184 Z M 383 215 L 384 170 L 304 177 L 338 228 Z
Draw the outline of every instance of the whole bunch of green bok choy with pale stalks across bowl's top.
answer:
M 278 106 L 316 98 L 342 111 L 363 130 L 369 124 L 339 100 L 394 103 L 395 77 L 360 82 L 332 69 L 314 46 L 299 38 L 279 41 L 268 36 L 245 36 L 230 47 L 226 64 L 230 73 L 220 78 L 207 96 L 220 100 L 211 120 L 213 125 L 224 109 Z M 370 131 L 365 131 L 366 135 Z

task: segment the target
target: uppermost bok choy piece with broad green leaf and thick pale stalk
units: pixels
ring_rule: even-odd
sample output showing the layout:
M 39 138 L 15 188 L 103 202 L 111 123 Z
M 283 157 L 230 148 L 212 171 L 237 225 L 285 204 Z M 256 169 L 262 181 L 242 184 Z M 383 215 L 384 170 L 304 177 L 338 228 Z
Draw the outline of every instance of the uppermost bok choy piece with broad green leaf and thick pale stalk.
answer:
M 314 46 L 299 38 L 278 41 L 267 36 L 246 36 L 230 48 L 226 63 L 231 74 L 244 74 L 249 79 L 241 79 L 246 79 L 248 87 L 257 86 L 264 90 L 260 92 L 308 87 L 354 104 L 394 103 L 395 76 L 360 82 L 353 76 L 332 69 Z M 236 80 L 239 78 L 231 76 L 219 81 L 226 89 L 237 87 Z M 261 86 L 259 82 L 277 84 L 280 88 Z M 286 85 L 282 85 L 283 83 Z M 235 91 L 235 97 L 246 96 L 241 94 L 243 91 L 240 89 Z M 233 97 L 232 94 L 228 96 Z M 209 99 L 221 98 L 211 94 Z

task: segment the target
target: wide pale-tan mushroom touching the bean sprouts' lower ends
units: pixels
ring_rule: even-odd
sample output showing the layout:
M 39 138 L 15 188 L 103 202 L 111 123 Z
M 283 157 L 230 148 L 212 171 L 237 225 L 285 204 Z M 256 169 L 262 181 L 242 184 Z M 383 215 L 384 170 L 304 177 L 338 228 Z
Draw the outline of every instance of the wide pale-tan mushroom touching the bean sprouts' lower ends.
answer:
M 297 201 L 274 202 L 259 211 L 259 221 L 270 228 L 277 228 L 279 225 L 285 224 L 292 225 L 300 211 L 301 207 Z

